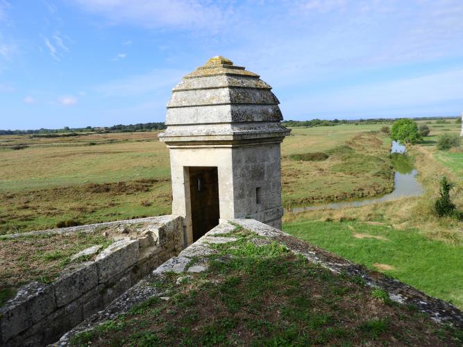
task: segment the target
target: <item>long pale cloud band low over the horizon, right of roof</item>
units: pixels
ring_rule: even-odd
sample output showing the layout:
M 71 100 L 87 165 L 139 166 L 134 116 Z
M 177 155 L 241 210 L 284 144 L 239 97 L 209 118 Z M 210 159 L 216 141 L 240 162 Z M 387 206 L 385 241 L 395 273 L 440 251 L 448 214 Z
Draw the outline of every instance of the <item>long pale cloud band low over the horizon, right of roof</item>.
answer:
M 391 110 L 426 109 L 433 105 L 463 103 L 463 69 L 394 81 L 339 87 L 330 92 L 289 97 L 285 111 L 289 115 L 317 117 L 339 115 L 388 116 Z M 436 87 L 439 86 L 439 87 Z M 305 111 L 302 111 L 305 110 Z

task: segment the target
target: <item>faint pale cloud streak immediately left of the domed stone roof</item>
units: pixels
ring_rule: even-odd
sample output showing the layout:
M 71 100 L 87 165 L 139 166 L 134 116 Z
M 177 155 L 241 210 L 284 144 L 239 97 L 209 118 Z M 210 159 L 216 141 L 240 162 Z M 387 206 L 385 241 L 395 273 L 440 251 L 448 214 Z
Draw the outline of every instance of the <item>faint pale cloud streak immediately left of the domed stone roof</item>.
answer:
M 180 78 L 185 73 L 175 69 L 154 69 L 147 74 L 128 76 L 98 85 L 94 90 L 103 96 L 140 95 L 158 90 L 170 90 L 173 85 L 180 82 Z

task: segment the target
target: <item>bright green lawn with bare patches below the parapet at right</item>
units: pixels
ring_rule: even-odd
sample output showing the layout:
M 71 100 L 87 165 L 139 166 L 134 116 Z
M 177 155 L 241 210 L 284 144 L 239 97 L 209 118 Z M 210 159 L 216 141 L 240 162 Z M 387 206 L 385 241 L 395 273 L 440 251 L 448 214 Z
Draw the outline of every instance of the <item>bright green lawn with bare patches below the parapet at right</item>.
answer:
M 463 308 L 461 245 L 430 240 L 414 229 L 355 221 L 302 221 L 283 230 Z

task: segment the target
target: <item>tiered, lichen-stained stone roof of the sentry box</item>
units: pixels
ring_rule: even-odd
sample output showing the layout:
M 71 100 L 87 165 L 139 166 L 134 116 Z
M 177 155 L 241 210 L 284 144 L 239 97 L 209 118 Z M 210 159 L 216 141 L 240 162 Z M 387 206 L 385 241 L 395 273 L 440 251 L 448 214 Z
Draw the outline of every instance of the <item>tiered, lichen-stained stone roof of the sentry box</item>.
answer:
M 258 134 L 284 137 L 289 130 L 280 125 L 283 116 L 279 103 L 271 86 L 258 74 L 216 56 L 174 87 L 167 103 L 167 130 L 160 139 L 169 142 L 183 137 L 192 141 L 185 137 L 194 136 L 194 140 L 203 141 Z

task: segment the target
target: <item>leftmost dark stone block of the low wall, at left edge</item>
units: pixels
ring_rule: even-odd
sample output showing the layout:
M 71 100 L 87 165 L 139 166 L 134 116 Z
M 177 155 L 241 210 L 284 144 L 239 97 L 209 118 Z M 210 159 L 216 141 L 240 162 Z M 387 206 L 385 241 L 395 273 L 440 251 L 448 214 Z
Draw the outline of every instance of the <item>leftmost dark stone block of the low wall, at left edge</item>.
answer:
M 56 310 L 51 285 L 32 282 L 21 287 L 15 298 L 0 308 L 0 330 L 3 342 Z

